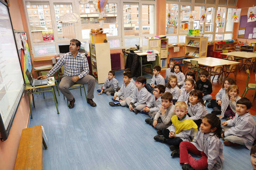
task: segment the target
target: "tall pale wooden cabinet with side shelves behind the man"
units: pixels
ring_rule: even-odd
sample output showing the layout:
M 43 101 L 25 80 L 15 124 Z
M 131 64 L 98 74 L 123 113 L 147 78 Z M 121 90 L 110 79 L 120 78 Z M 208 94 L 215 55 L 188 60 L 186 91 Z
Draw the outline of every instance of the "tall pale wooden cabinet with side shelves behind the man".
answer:
M 92 75 L 98 84 L 104 83 L 111 70 L 110 46 L 107 43 L 90 43 Z

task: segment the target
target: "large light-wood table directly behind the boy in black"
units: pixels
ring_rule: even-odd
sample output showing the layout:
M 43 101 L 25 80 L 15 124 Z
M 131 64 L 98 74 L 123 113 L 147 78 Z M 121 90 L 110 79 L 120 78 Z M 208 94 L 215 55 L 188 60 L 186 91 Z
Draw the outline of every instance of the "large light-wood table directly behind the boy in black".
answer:
M 183 60 L 185 63 L 190 63 L 190 60 L 196 60 L 198 61 L 198 65 L 202 65 L 209 68 L 209 75 L 210 75 L 210 81 L 211 81 L 211 75 L 212 75 L 212 68 L 216 66 L 228 66 L 231 64 L 239 64 L 239 62 L 230 61 L 230 60 L 223 60 L 219 58 L 213 58 L 213 57 L 203 57 L 203 58 L 193 58 L 193 59 L 185 59 Z M 183 72 L 185 71 L 185 64 L 183 68 Z M 224 74 L 224 78 L 226 78 L 226 73 Z M 222 79 L 222 78 L 221 78 Z

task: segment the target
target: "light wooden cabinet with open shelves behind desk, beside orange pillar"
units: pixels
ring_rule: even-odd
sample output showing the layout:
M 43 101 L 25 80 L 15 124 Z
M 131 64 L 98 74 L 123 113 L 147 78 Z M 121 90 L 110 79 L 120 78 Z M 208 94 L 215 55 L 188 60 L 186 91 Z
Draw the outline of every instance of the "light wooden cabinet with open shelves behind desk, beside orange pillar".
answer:
M 159 65 L 161 70 L 167 69 L 168 63 L 168 38 L 162 39 L 143 39 L 143 50 L 157 50 L 159 52 Z

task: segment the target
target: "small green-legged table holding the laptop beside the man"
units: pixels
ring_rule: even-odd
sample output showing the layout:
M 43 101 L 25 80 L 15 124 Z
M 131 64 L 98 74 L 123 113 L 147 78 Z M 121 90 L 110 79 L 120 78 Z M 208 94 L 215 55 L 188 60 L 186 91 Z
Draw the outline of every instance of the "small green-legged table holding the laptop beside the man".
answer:
M 52 84 L 49 84 L 49 82 L 48 82 L 47 85 L 39 85 L 39 86 L 35 86 L 35 87 L 33 87 L 33 86 L 30 85 L 30 84 L 26 84 L 25 90 L 28 90 L 28 102 L 29 102 L 30 118 L 31 118 L 31 119 L 33 119 L 33 116 L 32 116 L 32 109 L 31 109 L 30 94 L 32 94 L 33 106 L 35 107 L 35 101 L 34 101 L 34 95 L 33 95 L 33 94 L 35 94 L 35 93 L 50 92 L 50 91 L 52 91 L 53 99 L 54 99 L 55 106 L 56 106 L 56 109 L 57 109 L 57 114 L 59 114 L 59 109 L 58 109 L 58 106 L 57 106 L 58 101 L 57 101 L 56 94 L 55 94 L 55 91 L 54 91 L 55 78 L 54 78 L 54 77 L 51 77 L 51 79 L 49 78 L 49 80 L 51 81 Z M 42 88 L 42 87 L 51 87 L 51 90 L 43 90 L 43 91 L 40 91 L 40 92 L 30 92 L 31 89 L 37 89 L 37 88 Z

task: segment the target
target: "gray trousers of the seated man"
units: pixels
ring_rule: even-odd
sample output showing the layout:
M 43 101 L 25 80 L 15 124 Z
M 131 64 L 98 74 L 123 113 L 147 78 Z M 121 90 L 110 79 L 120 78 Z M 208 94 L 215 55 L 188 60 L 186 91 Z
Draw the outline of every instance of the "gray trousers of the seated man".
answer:
M 71 77 L 65 76 L 61 78 L 59 89 L 62 94 L 68 99 L 68 101 L 71 101 L 74 99 L 74 96 L 69 90 L 69 87 L 71 87 L 74 84 L 87 84 L 88 90 L 87 90 L 87 98 L 93 99 L 94 98 L 94 87 L 95 87 L 95 78 L 93 78 L 90 75 L 85 75 L 83 78 L 80 78 L 77 82 L 73 82 L 71 80 Z

